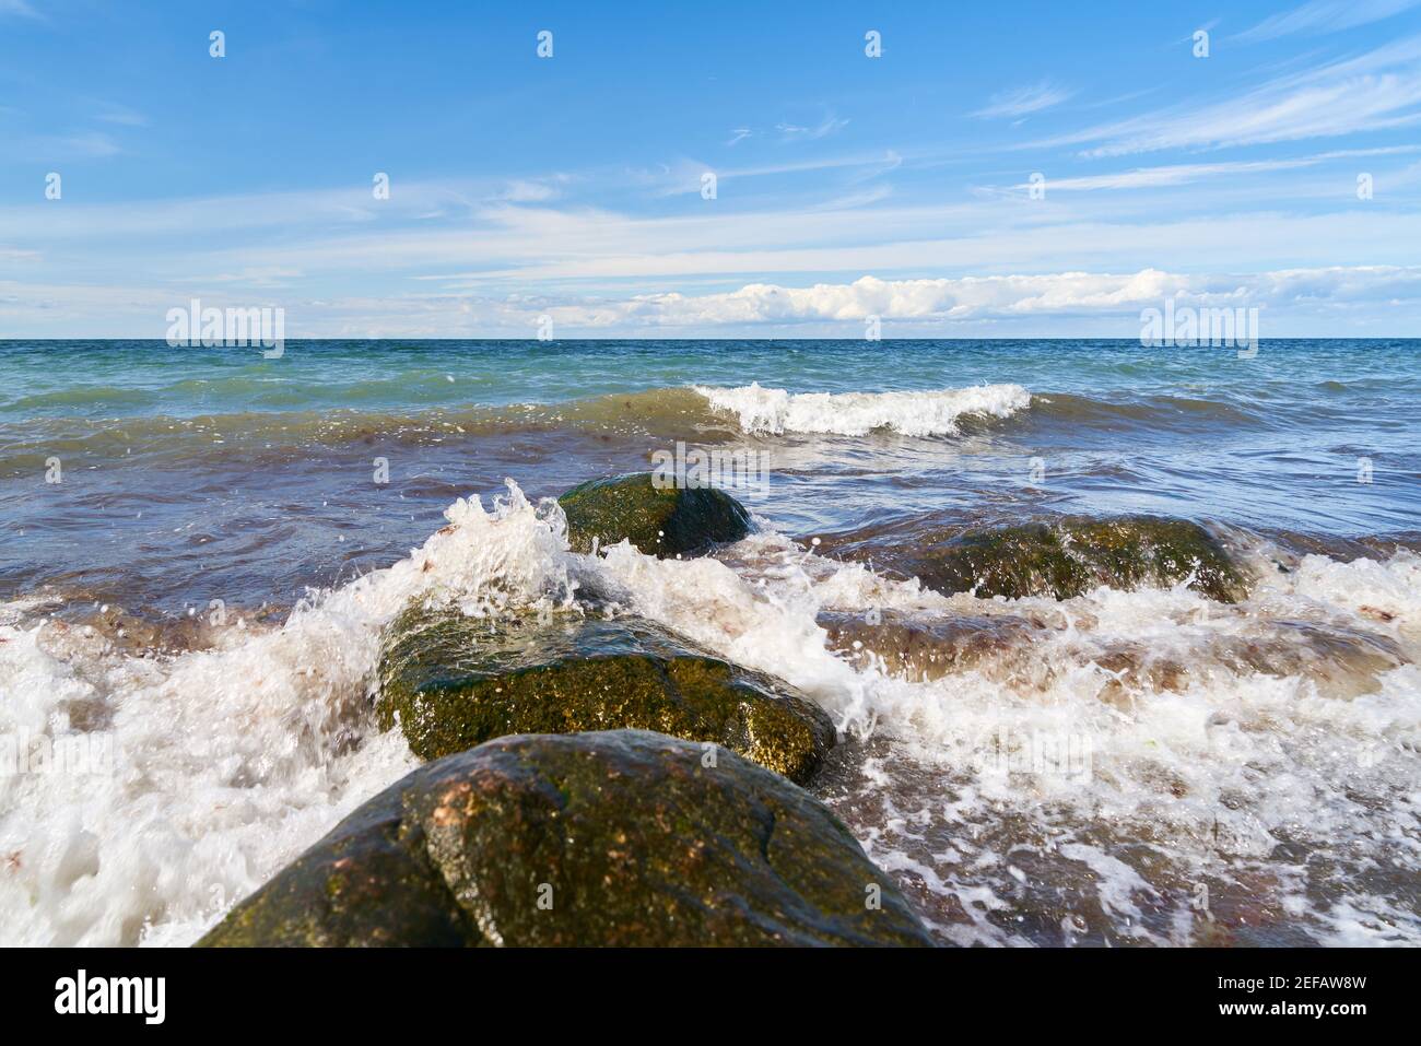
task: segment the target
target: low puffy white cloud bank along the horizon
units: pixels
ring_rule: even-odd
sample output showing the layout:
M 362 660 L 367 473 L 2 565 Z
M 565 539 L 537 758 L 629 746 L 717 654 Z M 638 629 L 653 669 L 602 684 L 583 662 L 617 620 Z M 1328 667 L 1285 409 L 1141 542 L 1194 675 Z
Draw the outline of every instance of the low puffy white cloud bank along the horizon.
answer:
M 161 337 L 166 310 L 200 297 L 217 307 L 280 304 L 291 337 L 530 337 L 539 317 L 591 335 L 675 337 L 733 333 L 863 330 L 870 316 L 897 335 L 951 337 L 962 331 L 1037 334 L 1077 330 L 1128 333 L 1142 308 L 1178 306 L 1259 307 L 1263 331 L 1320 335 L 1334 330 L 1395 334 L 1421 316 L 1421 266 L 1285 269 L 1246 274 L 1061 271 L 932 280 L 881 280 L 786 287 L 752 283 L 705 294 L 634 294 L 568 298 L 551 294 L 398 294 L 311 298 L 230 289 L 34 284 L 0 281 L 0 323 L 40 337 Z M 1329 320 L 1330 317 L 1330 320 Z

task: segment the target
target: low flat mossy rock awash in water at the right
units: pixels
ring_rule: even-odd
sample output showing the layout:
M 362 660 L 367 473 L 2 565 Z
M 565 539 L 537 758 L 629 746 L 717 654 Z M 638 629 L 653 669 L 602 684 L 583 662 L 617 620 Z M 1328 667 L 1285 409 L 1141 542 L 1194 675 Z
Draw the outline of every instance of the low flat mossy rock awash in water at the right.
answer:
M 1221 603 L 1246 594 L 1228 551 L 1198 523 L 1152 516 L 1087 519 L 985 529 L 891 526 L 867 537 L 845 536 L 827 550 L 871 559 L 941 593 L 990 598 L 1050 595 L 1067 600 L 1098 586 L 1189 587 Z

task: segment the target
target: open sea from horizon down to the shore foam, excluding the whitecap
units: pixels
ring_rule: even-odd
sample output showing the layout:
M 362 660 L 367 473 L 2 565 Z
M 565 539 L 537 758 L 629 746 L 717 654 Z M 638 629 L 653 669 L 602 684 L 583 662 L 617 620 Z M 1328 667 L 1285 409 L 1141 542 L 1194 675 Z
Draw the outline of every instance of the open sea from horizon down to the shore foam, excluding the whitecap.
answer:
M 1032 402 L 924 438 L 895 431 L 891 414 L 864 435 L 776 433 L 705 404 L 617 401 L 752 382 L 790 394 L 1009 384 Z M 1410 541 L 1421 519 L 1414 340 L 1268 341 L 1253 358 L 1130 341 L 296 341 L 279 360 L 11 341 L 0 389 L 9 595 L 87 578 L 172 610 L 200 570 L 239 598 L 290 601 L 402 553 L 453 496 L 504 476 L 556 495 L 647 468 L 675 439 L 759 448 L 774 472 L 746 500 L 800 536 L 990 509 Z M 581 404 L 585 416 L 489 414 L 524 404 Z M 51 458 L 61 483 L 44 483 Z M 367 482 L 375 458 L 389 460 L 388 485 Z

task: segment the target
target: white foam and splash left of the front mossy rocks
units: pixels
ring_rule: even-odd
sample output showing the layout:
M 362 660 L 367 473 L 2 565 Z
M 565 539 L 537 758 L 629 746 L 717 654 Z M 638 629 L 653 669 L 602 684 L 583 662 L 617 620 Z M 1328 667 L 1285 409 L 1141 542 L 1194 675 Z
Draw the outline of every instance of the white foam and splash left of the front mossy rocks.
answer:
M 409 559 L 215 649 L 132 658 L 54 622 L 0 627 L 0 733 L 101 730 L 117 757 L 111 773 L 0 776 L 3 942 L 188 944 L 412 769 L 398 732 L 369 725 L 391 617 L 418 597 L 485 613 L 571 587 L 560 517 L 516 489 L 446 516 Z M 78 702 L 97 723 L 81 729 Z

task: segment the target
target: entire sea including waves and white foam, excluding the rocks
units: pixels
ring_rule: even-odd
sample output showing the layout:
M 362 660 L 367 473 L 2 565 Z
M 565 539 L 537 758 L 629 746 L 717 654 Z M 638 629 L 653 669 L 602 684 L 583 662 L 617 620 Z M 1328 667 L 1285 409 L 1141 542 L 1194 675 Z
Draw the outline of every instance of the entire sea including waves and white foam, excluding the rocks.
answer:
M 88 756 L 0 775 L 0 944 L 188 944 L 411 769 L 371 686 L 435 591 L 614 593 L 804 689 L 945 942 L 1418 944 L 1418 411 L 1415 340 L 0 343 L 0 738 Z M 696 448 L 753 463 L 713 557 L 540 505 Z M 1199 522 L 1249 597 L 888 566 L 1061 513 Z

